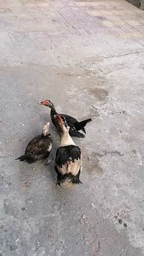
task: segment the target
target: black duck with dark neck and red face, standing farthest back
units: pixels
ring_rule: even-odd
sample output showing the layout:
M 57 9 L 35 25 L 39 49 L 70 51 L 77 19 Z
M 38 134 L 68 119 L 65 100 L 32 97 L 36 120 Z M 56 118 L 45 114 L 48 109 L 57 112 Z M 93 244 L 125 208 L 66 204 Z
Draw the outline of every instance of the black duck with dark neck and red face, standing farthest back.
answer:
M 65 117 L 66 122 L 67 122 L 68 126 L 70 127 L 70 129 L 69 129 L 70 136 L 79 137 L 79 138 L 85 137 L 85 135 L 83 135 L 83 133 L 78 132 L 78 131 L 82 130 L 84 133 L 86 133 L 85 126 L 88 122 L 91 121 L 91 118 L 79 122 L 76 120 L 76 118 L 71 117 L 70 115 L 58 114 L 56 112 L 55 106 L 53 105 L 52 102 L 50 102 L 50 100 L 43 100 L 42 102 L 38 102 L 38 104 L 48 106 L 51 109 L 50 117 L 52 119 L 52 123 L 54 124 L 54 126 L 56 127 L 57 130 L 59 130 L 59 126 L 58 126 L 57 120 L 54 118 L 54 116 L 62 115 L 63 117 Z

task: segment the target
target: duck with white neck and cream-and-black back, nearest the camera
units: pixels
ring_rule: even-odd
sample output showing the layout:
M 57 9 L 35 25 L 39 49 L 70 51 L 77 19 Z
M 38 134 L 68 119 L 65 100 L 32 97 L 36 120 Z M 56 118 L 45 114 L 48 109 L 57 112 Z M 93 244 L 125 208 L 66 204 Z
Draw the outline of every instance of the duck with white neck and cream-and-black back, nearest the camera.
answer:
M 65 117 L 55 115 L 54 118 L 61 132 L 61 143 L 55 157 L 57 184 L 62 187 L 71 187 L 73 184 L 81 183 L 79 176 L 82 171 L 82 153 L 68 133 Z

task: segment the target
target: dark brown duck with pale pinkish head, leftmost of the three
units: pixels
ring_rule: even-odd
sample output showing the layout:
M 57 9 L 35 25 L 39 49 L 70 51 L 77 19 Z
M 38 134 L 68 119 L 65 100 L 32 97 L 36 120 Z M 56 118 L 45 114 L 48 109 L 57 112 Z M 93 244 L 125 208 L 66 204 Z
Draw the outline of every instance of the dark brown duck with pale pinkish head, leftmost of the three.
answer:
M 32 139 L 26 147 L 25 154 L 15 160 L 26 161 L 27 163 L 34 163 L 40 159 L 47 159 L 52 150 L 52 138 L 49 133 L 48 122 L 43 127 L 43 133 Z

